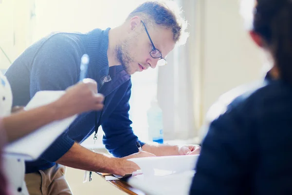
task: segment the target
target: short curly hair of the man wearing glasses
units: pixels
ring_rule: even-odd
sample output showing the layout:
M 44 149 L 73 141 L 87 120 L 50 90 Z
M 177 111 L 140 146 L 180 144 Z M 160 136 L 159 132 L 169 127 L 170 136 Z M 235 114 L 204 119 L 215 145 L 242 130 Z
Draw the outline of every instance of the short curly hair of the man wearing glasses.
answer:
M 185 43 L 188 33 L 186 21 L 180 16 L 180 8 L 171 1 L 146 1 L 134 9 L 128 19 L 133 16 L 141 16 L 143 20 L 154 21 L 157 25 L 171 29 L 174 42 Z M 185 39 L 185 40 L 184 40 Z

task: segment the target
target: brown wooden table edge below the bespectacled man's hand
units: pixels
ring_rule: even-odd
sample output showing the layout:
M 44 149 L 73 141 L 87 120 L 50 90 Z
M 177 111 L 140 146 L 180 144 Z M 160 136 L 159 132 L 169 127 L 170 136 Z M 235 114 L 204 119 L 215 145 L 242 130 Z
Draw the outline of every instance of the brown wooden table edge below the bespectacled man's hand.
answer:
M 100 173 L 97 174 L 106 179 L 106 174 L 103 175 L 101 175 Z M 108 182 L 110 182 L 110 184 L 113 185 L 114 187 L 118 188 L 119 190 L 129 195 L 146 195 L 144 192 L 130 186 L 127 182 L 127 179 L 109 180 Z

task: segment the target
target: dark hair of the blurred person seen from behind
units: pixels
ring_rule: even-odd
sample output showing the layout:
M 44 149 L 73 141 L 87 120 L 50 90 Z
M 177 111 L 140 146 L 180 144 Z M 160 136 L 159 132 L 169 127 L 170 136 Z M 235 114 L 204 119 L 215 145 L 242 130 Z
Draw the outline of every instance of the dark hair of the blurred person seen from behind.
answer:
M 292 1 L 256 1 L 254 31 L 271 50 L 280 77 L 292 84 Z

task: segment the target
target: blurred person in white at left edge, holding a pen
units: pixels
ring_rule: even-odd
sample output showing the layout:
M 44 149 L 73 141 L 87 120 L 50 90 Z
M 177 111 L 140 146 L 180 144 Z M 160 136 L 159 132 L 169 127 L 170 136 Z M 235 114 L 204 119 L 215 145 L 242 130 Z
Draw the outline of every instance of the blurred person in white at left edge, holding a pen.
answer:
M 55 120 L 71 117 L 75 114 L 103 108 L 104 97 L 97 94 L 97 84 L 92 79 L 84 79 L 66 90 L 61 98 L 54 102 L 29 111 L 20 111 L 21 108 L 12 108 L 12 92 L 7 79 L 0 73 L 0 151 L 5 144 L 12 143 L 24 137 L 37 128 Z M 15 113 L 11 114 L 11 111 Z M 31 149 L 33 150 L 33 148 Z M 4 174 L 2 158 L 7 160 Z M 17 158 L 5 158 L 0 154 L 0 195 L 14 195 L 27 192 L 23 186 L 24 170 L 13 167 L 24 163 Z M 24 167 L 24 166 L 23 166 Z M 14 170 L 18 170 L 15 172 Z M 21 173 L 22 170 L 23 172 Z M 61 175 L 64 177 L 64 175 Z M 14 186 L 17 184 L 17 186 Z M 19 191 L 19 189 L 21 189 Z

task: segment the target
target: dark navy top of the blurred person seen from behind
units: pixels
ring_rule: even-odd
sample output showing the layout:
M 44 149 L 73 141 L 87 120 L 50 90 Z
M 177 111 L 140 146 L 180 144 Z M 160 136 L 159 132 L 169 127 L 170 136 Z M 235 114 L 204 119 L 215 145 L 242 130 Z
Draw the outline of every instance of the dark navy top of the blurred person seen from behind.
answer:
M 291 195 L 291 151 L 292 87 L 266 79 L 210 124 L 190 194 Z

